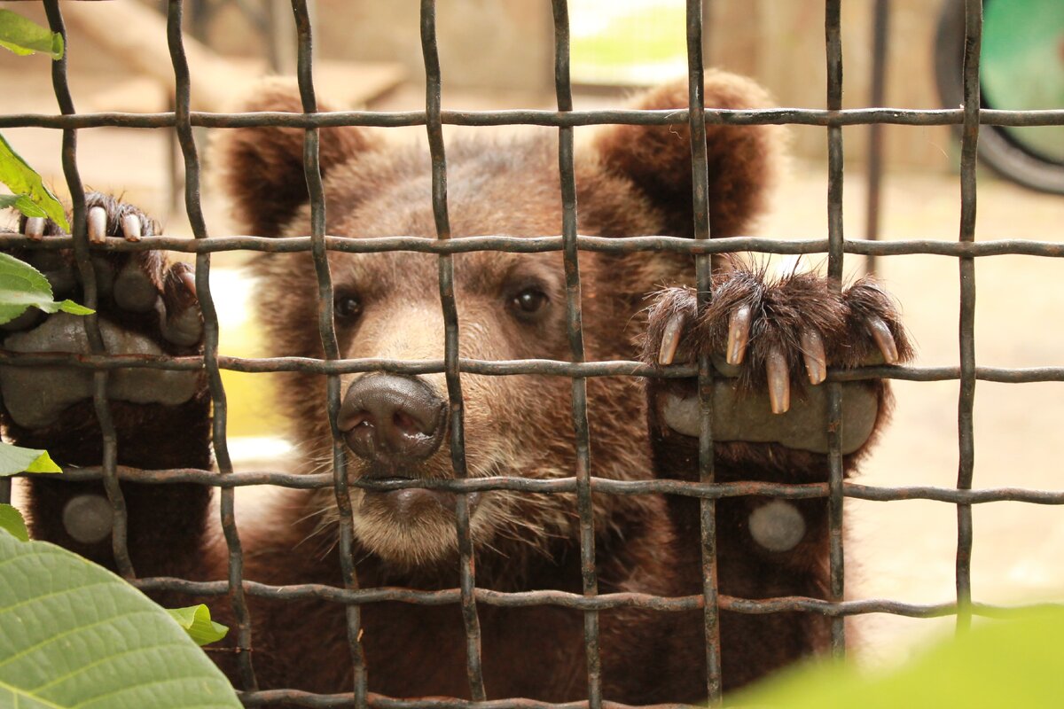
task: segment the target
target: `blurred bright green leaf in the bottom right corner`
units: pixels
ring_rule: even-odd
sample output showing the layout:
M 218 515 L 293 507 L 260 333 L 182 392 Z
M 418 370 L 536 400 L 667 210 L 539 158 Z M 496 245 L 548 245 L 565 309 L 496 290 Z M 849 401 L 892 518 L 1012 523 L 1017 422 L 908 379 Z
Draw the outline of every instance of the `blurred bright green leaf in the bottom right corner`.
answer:
M 1064 706 L 1064 608 L 977 621 L 888 674 L 849 663 L 785 672 L 727 706 L 774 709 L 1059 709 Z

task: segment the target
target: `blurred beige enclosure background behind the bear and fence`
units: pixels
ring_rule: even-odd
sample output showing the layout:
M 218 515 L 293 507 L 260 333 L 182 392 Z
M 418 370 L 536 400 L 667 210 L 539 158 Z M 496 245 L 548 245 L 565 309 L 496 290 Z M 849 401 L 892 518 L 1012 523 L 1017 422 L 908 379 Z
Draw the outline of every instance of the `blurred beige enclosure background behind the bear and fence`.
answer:
M 2 3 L 44 22 L 31 3 Z M 940 71 L 951 68 L 952 0 L 844 2 L 845 107 L 937 108 Z M 161 112 L 170 107 L 172 73 L 157 2 L 63 3 L 69 69 L 79 112 Z M 249 82 L 268 72 L 293 73 L 295 39 L 287 3 L 271 0 L 186 2 L 194 108 L 225 111 Z M 423 107 L 425 80 L 414 0 L 317 0 L 313 3 L 318 96 L 335 108 Z M 570 0 L 572 78 L 577 108 L 624 105 L 637 87 L 685 74 L 682 0 Z M 877 15 L 884 7 L 887 16 Z M 1005 12 L 1007 9 L 1009 12 Z M 984 88 L 1003 108 L 1064 107 L 1064 5 L 1059 0 L 987 0 Z M 445 108 L 550 108 L 553 49 L 550 3 L 529 0 L 448 0 L 439 3 L 438 36 Z M 936 37 L 941 17 L 945 39 Z M 950 14 L 952 13 L 952 15 Z M 994 19 L 994 17 L 997 19 Z M 825 106 L 821 0 L 714 0 L 706 3 L 708 64 L 764 84 L 782 106 Z M 949 18 L 953 19 L 950 20 Z M 963 19 L 963 16 L 962 16 Z M 992 31 L 991 20 L 994 19 Z M 884 45 L 884 82 L 874 91 L 876 29 Z M 0 53 L 6 113 L 56 113 L 47 57 Z M 955 54 L 955 52 L 954 52 Z M 944 58 L 945 56 L 945 58 Z M 955 56 L 954 56 L 955 60 Z M 945 63 L 945 69 L 943 69 Z M 953 72 L 953 73 L 951 73 Z M 948 95 L 948 89 L 947 89 Z M 945 99 L 955 107 L 957 100 Z M 520 132 L 501 129 L 452 129 Z M 591 129 L 578 129 L 578 140 Z M 423 128 L 388 129 L 389 139 L 423 141 Z M 793 161 L 771 213 L 757 234 L 824 238 L 827 234 L 827 131 L 791 126 Z M 957 139 L 948 126 L 887 125 L 881 132 L 879 209 L 868 216 L 868 126 L 844 129 L 847 238 L 955 240 L 960 225 Z M 994 142 L 986 138 L 984 142 Z M 60 133 L 5 130 L 7 140 L 66 195 Z M 207 168 L 210 136 L 197 133 Z M 1001 138 L 1001 136 L 999 136 Z M 1019 146 L 1028 167 L 1047 170 L 1052 189 L 1064 169 L 1064 128 L 1025 129 L 1003 136 Z M 1023 161 L 1020 161 L 1023 162 Z M 123 192 L 160 217 L 166 233 L 189 235 L 183 180 L 169 131 L 93 129 L 79 133 L 79 166 L 93 189 Z M 1033 165 L 1033 167 L 1032 167 Z M 1055 166 L 1055 167 L 1054 167 Z M 1054 171 L 1055 170 L 1055 171 Z M 1019 169 L 1023 178 L 1023 168 Z M 1043 176 L 1045 176 L 1043 175 Z M 1064 240 L 1064 197 L 1034 191 L 980 168 L 977 238 Z M 1047 187 L 1048 185 L 1048 187 Z M 203 188 L 211 235 L 232 234 L 225 202 Z M 223 354 L 261 352 L 248 304 L 252 285 L 239 275 L 246 254 L 214 258 L 212 289 L 222 318 Z M 814 259 L 815 260 L 815 259 Z M 814 264 L 815 266 L 816 264 Z M 848 256 L 851 276 L 865 269 Z M 898 298 L 918 348 L 920 366 L 957 366 L 959 278 L 955 259 L 878 259 L 878 275 Z M 1059 259 L 995 256 L 977 260 L 977 361 L 994 367 L 1064 365 L 1064 264 Z M 225 373 L 232 411 L 230 444 L 238 467 L 283 469 L 289 449 L 271 436 L 268 375 Z M 862 471 L 869 485 L 953 486 L 958 469 L 958 383 L 895 385 L 894 423 Z M 980 382 L 976 390 L 976 487 L 1061 489 L 1064 384 Z M 594 446 L 594 443 L 593 443 Z M 848 501 L 847 594 L 912 603 L 954 597 L 955 509 L 933 502 Z M 1064 509 L 996 503 L 975 509 L 972 588 L 977 601 L 1016 603 L 1064 598 Z M 853 622 L 857 645 L 871 663 L 891 662 L 947 632 L 951 620 L 886 615 Z

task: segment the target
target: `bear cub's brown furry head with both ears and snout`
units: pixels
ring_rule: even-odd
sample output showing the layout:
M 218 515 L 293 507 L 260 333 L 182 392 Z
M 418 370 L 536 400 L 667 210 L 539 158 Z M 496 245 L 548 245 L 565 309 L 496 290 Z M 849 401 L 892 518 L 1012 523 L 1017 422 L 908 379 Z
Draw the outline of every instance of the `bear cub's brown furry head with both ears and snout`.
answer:
M 686 105 L 685 84 L 643 96 L 639 108 Z M 751 83 L 724 73 L 706 82 L 706 105 L 764 103 Z M 301 113 L 294 85 L 261 86 L 249 111 Z M 716 236 L 744 233 L 762 209 L 779 156 L 768 126 L 709 125 L 711 220 Z M 232 131 L 221 142 L 223 180 L 247 233 L 305 236 L 311 210 L 299 129 Z M 327 233 L 366 238 L 436 237 L 429 152 L 394 147 L 359 128 L 320 131 Z M 556 132 L 525 139 L 458 140 L 446 149 L 451 235 L 556 236 L 562 232 Z M 616 125 L 599 130 L 576 158 L 579 226 L 584 235 L 691 236 L 689 133 L 683 125 Z M 470 360 L 570 360 L 566 274 L 559 251 L 470 251 L 449 256 L 458 309 L 458 342 Z M 440 305 L 440 257 L 411 251 L 330 251 L 334 322 L 343 358 L 435 360 L 447 337 Z M 271 354 L 322 357 L 318 285 L 306 252 L 263 254 L 253 261 L 256 301 Z M 635 358 L 645 298 L 693 280 L 688 256 L 664 252 L 580 253 L 583 344 L 587 360 Z M 462 417 L 464 465 L 470 476 L 571 477 L 577 470 L 571 379 L 558 375 L 464 372 L 463 407 L 449 400 L 442 372 L 369 372 L 340 377 L 338 428 L 350 449 L 352 478 L 454 476 L 451 425 Z M 312 461 L 331 463 L 326 377 L 292 374 L 282 406 Z M 587 382 L 591 472 L 649 477 L 651 461 L 642 387 L 631 378 Z M 459 461 L 461 462 L 461 460 Z M 323 523 L 335 519 L 332 490 L 316 502 Z M 642 495 L 596 495 L 601 539 L 661 513 Z M 431 565 L 456 550 L 454 497 L 405 489 L 352 492 L 360 544 L 388 563 Z M 469 495 L 475 543 L 515 557 L 552 555 L 577 538 L 572 494 L 489 491 Z M 562 540 L 562 541 L 559 541 Z

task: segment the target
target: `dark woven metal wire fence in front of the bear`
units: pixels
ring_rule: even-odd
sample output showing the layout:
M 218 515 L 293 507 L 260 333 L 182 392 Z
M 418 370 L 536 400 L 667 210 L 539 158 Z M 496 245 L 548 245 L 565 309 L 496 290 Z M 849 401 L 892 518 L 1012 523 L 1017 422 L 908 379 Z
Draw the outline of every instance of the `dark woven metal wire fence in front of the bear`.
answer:
M 57 0 L 45 0 L 51 29 L 64 32 L 63 19 Z M 73 236 L 47 239 L 43 242 L 28 242 L 19 235 L 0 235 L 0 246 L 22 248 L 57 249 L 72 248 L 76 252 L 85 284 L 85 303 L 94 307 L 97 302 L 95 274 L 88 261 L 88 243 L 85 227 L 84 189 L 77 167 L 77 131 L 82 128 L 116 125 L 127 128 L 174 126 L 181 144 L 186 168 L 186 207 L 194 241 L 168 237 L 146 237 L 139 242 L 109 239 L 102 247 L 107 251 L 136 251 L 144 249 L 166 249 L 196 253 L 197 292 L 203 308 L 205 348 L 202 356 L 193 357 L 150 357 L 109 356 L 103 354 L 102 341 L 95 316 L 85 319 L 90 353 L 86 355 L 13 354 L 0 353 L 0 364 L 11 366 L 67 365 L 88 368 L 94 375 L 94 402 L 100 419 L 104 438 L 104 456 L 96 469 L 67 472 L 70 479 L 103 479 L 115 512 L 113 547 L 119 571 L 144 590 L 183 591 L 199 595 L 229 594 L 237 619 L 237 642 L 240 648 L 250 648 L 252 643 L 252 622 L 249 618 L 246 595 L 270 598 L 325 598 L 343 603 L 347 608 L 348 638 L 351 662 L 354 668 L 352 693 L 338 695 L 315 695 L 295 690 L 257 691 L 249 653 L 238 654 L 238 668 L 244 687 L 242 699 L 247 706 L 266 706 L 282 702 L 298 703 L 302 706 L 328 707 L 375 706 L 401 708 L 443 709 L 445 707 L 578 707 L 597 708 L 612 703 L 601 696 L 601 666 L 598 657 L 598 618 L 602 609 L 620 606 L 635 606 L 660 611 L 703 609 L 705 613 L 705 639 L 708 687 L 711 702 L 720 695 L 720 648 L 717 621 L 720 609 L 746 613 L 771 613 L 781 611 L 810 611 L 832 619 L 832 649 L 836 655 L 845 652 L 843 622 L 845 617 L 888 612 L 915 618 L 931 618 L 955 614 L 959 628 L 970 624 L 972 614 L 1004 615 L 1013 608 L 971 603 L 970 559 L 971 559 L 971 505 L 987 502 L 1012 501 L 1033 504 L 1064 504 L 1064 491 L 1040 491 L 1017 488 L 974 490 L 972 462 L 974 437 L 971 410 L 977 379 L 993 382 L 1060 382 L 1064 381 L 1064 368 L 1044 367 L 1029 369 L 978 368 L 975 365 L 974 308 L 975 308 L 975 258 L 998 254 L 1025 254 L 1033 256 L 1064 256 L 1064 244 L 1003 239 L 976 243 L 974 240 L 976 217 L 976 145 L 980 123 L 1001 125 L 1053 125 L 1064 124 L 1064 111 L 1010 112 L 979 108 L 978 55 L 981 36 L 981 1 L 967 0 L 967 22 L 965 40 L 964 97 L 962 109 L 952 111 L 900 111 L 894 108 L 870 108 L 858 111 L 842 109 L 842 45 L 839 33 L 841 0 L 826 1 L 826 47 L 828 62 L 828 109 L 800 111 L 794 108 L 768 111 L 717 111 L 703 106 L 702 96 L 702 3 L 687 1 L 687 45 L 689 62 L 689 105 L 686 111 L 637 112 L 637 111 L 572 111 L 568 74 L 568 22 L 565 0 L 553 0 L 555 22 L 555 86 L 558 111 L 501 111 L 501 112 L 446 112 L 440 107 L 440 70 L 436 52 L 434 0 L 421 1 L 421 36 L 425 53 L 427 97 L 425 112 L 368 113 L 344 112 L 317 114 L 312 80 L 311 47 L 312 33 L 305 0 L 293 0 L 293 12 L 299 38 L 298 78 L 302 98 L 302 115 L 293 114 L 203 114 L 192 113 L 189 105 L 189 77 L 184 58 L 181 35 L 182 3 L 170 0 L 168 4 L 168 41 L 173 61 L 177 108 L 171 114 L 92 114 L 78 115 L 70 98 L 66 79 L 66 60 L 53 64 L 53 85 L 60 103 L 59 116 L 9 115 L 0 117 L 2 126 L 45 126 L 63 131 L 63 168 L 73 204 Z M 706 212 L 706 166 L 704 154 L 704 122 L 732 124 L 801 123 L 826 125 L 829 145 L 829 238 L 827 240 L 768 240 L 736 237 L 710 240 L 711 224 Z M 577 235 L 577 204 L 572 167 L 572 128 L 600 123 L 630 124 L 680 124 L 686 122 L 693 135 L 692 165 L 694 171 L 695 239 L 672 237 L 596 238 Z M 940 124 L 962 123 L 962 174 L 961 203 L 962 218 L 960 239 L 955 243 L 936 240 L 909 240 L 891 243 L 846 241 L 842 229 L 842 178 L 843 141 L 842 128 L 866 123 Z M 445 123 L 465 125 L 497 124 L 541 124 L 559 129 L 559 165 L 562 175 L 561 190 L 564 218 L 563 233 L 558 236 L 538 238 L 469 237 L 450 239 L 447 212 L 447 168 L 442 126 Z M 326 125 L 411 125 L 425 124 L 429 134 L 432 155 L 432 204 L 436 220 L 437 238 L 388 237 L 375 239 L 344 239 L 326 235 L 325 199 L 318 165 L 317 130 Z M 304 170 L 310 189 L 312 208 L 312 234 L 310 237 L 265 239 L 247 236 L 207 238 L 199 199 L 199 159 L 192 136 L 193 125 L 211 128 L 236 128 L 246 125 L 292 125 L 306 131 L 304 141 Z M 220 356 L 217 351 L 218 320 L 207 287 L 210 254 L 216 251 L 235 249 L 263 252 L 310 251 L 313 254 L 319 286 L 319 331 L 325 345 L 325 359 L 299 357 L 273 357 L 243 359 Z M 439 288 L 444 307 L 446 349 L 444 360 L 403 362 L 382 359 L 343 359 L 336 344 L 332 323 L 332 287 L 326 253 L 378 251 L 420 251 L 436 253 L 439 257 Z M 462 359 L 458 356 L 458 318 L 453 294 L 453 271 L 450 263 L 453 253 L 467 251 L 497 250 L 510 252 L 562 251 L 565 263 L 567 294 L 567 330 L 572 360 L 511 360 L 484 361 Z M 712 369 L 705 358 L 696 366 L 675 366 L 658 370 L 634 361 L 584 361 L 580 316 L 580 273 L 579 251 L 630 252 L 630 251 L 674 251 L 689 253 L 696 260 L 696 280 L 699 298 L 709 297 L 709 275 L 711 256 L 728 251 L 754 251 L 768 253 L 825 253 L 829 254 L 829 273 L 842 273 L 843 257 L 846 253 L 868 255 L 896 255 L 933 253 L 954 256 L 960 264 L 961 309 L 960 309 L 960 354 L 959 368 L 937 367 L 865 367 L 860 370 L 833 371 L 829 373 L 831 384 L 831 405 L 829 424 L 841 419 L 838 383 L 869 377 L 899 378 L 910 381 L 960 379 L 958 425 L 960 443 L 960 467 L 955 488 L 904 487 L 871 488 L 849 483 L 842 476 L 842 457 L 838 438 L 829 439 L 829 478 L 825 484 L 783 485 L 769 483 L 718 484 L 713 480 L 711 410 L 706 396 L 712 384 Z M 205 369 L 209 375 L 211 394 L 214 402 L 214 441 L 219 472 L 181 469 L 143 471 L 116 465 L 115 432 L 110 419 L 105 396 L 109 372 L 118 368 L 156 368 L 173 370 Z M 226 445 L 226 398 L 220 382 L 220 370 L 244 372 L 302 371 L 323 374 L 328 379 L 328 411 L 334 435 L 334 471 L 321 475 L 292 475 L 275 472 L 234 473 Z M 348 372 L 389 371 L 404 374 L 445 372 L 451 407 L 452 463 L 455 479 L 451 480 L 354 480 L 350 485 L 373 490 L 393 490 L 404 487 L 425 487 L 454 492 L 482 490 L 523 490 L 536 492 L 576 492 L 580 508 L 581 527 L 581 570 L 583 594 L 561 591 L 531 591 L 523 593 L 501 593 L 476 588 L 476 568 L 471 539 L 468 530 L 468 509 L 465 495 L 458 495 L 458 530 L 461 557 L 461 588 L 444 591 L 416 591 L 412 589 L 360 589 L 350 554 L 353 539 L 351 508 L 348 485 L 344 470 L 344 446 L 339 442 L 335 426 L 339 405 L 339 375 Z M 464 459 L 462 429 L 462 390 L 460 372 L 505 375 L 505 374 L 552 374 L 572 378 L 572 419 L 577 434 L 577 469 L 568 478 L 532 480 L 519 477 L 467 478 Z M 624 482 L 592 476 L 588 457 L 588 434 L 586 419 L 585 381 L 588 376 L 698 376 L 702 400 L 702 436 L 699 456 L 699 482 L 639 480 Z M 221 488 L 221 523 L 229 545 L 229 578 L 226 581 L 194 583 L 180 578 L 135 578 L 129 560 L 126 538 L 127 516 L 119 479 L 145 483 L 195 482 Z M 336 492 L 340 511 L 339 545 L 345 588 L 320 585 L 275 587 L 243 579 L 243 555 L 239 536 L 233 516 L 233 491 L 243 485 L 278 485 L 290 488 L 320 488 L 332 486 Z M 703 571 L 705 586 L 699 595 L 663 598 L 643 593 L 597 592 L 595 577 L 594 529 L 591 519 L 591 494 L 648 494 L 668 493 L 697 496 L 701 501 Z M 714 503 L 717 499 L 737 495 L 767 495 L 782 499 L 825 497 L 829 505 L 831 588 L 827 600 L 786 597 L 768 600 L 745 600 L 720 595 L 716 586 Z M 6 501 L 10 486 L 0 487 L 0 499 Z M 893 500 L 937 500 L 957 505 L 958 508 L 958 554 L 957 554 L 957 601 L 948 604 L 917 605 L 894 601 L 844 601 L 843 600 L 843 548 L 842 548 L 842 503 L 845 497 L 875 501 Z M 458 699 L 399 700 L 370 695 L 366 689 L 365 663 L 360 644 L 360 606 L 384 601 L 402 601 L 427 605 L 460 604 L 463 611 L 467 638 L 468 676 L 472 702 Z M 477 603 L 496 606 L 556 605 L 583 610 L 585 613 L 585 647 L 587 656 L 588 700 L 566 705 L 547 705 L 526 699 L 487 700 L 484 693 L 480 665 L 480 631 L 477 618 Z

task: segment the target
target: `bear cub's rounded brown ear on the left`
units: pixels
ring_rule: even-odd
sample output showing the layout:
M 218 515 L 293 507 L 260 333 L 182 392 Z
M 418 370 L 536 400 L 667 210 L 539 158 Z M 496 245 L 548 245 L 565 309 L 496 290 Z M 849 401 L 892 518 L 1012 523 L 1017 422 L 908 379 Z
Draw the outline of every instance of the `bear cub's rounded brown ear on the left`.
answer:
M 299 87 L 293 80 L 271 78 L 260 82 L 239 108 L 242 112 L 303 113 Z M 319 112 L 329 108 L 318 103 Z M 358 126 L 319 130 L 321 174 L 376 145 Z M 301 128 L 238 128 L 218 139 L 222 185 L 243 227 L 255 236 L 280 236 L 285 223 L 310 199 L 303 174 Z

